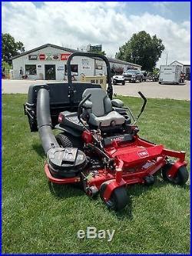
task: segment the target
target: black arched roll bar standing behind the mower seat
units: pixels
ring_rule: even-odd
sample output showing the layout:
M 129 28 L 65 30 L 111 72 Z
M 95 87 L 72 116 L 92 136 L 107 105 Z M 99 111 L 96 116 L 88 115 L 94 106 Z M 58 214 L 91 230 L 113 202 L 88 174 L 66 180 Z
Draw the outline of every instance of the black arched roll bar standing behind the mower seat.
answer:
M 92 53 L 92 52 L 74 52 L 71 55 L 69 55 L 68 57 L 68 62 L 67 62 L 67 68 L 68 68 L 68 85 L 70 87 L 71 92 L 74 91 L 73 88 L 73 83 L 72 83 L 72 77 L 71 77 L 71 59 L 74 56 L 82 56 L 82 57 L 88 57 L 88 58 L 101 58 L 107 67 L 107 80 L 108 80 L 108 96 L 109 98 L 112 99 L 113 96 L 113 87 L 111 85 L 111 68 L 110 68 L 110 64 L 108 61 L 108 58 L 105 57 L 104 55 L 99 55 L 98 53 Z

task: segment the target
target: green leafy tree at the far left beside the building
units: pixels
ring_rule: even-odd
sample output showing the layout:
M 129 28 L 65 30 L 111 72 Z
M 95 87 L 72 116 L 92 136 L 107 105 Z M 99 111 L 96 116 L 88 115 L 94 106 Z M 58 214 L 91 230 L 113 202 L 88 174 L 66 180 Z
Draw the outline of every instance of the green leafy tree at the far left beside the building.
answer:
M 9 65 L 12 64 L 12 57 L 25 52 L 25 47 L 22 42 L 15 42 L 15 38 L 10 34 L 2 34 L 2 58 Z

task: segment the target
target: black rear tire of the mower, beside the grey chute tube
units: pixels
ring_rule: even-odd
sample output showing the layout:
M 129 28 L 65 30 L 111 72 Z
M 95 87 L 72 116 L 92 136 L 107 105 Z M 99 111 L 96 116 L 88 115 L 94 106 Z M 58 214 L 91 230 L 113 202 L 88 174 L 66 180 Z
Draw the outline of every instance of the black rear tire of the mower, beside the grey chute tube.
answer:
M 55 136 L 58 145 L 62 148 L 81 148 L 80 138 L 72 137 L 71 135 L 64 135 L 62 133 Z

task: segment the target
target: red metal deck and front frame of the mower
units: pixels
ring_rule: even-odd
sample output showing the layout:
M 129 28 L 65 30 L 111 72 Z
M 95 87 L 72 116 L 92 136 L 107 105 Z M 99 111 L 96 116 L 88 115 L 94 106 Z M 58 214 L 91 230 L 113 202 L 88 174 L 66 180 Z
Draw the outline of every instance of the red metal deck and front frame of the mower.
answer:
M 167 156 L 178 158 L 172 168 L 170 168 L 170 176 L 174 177 L 177 168 L 187 165 L 186 161 L 184 161 L 184 151 L 170 151 L 165 149 L 163 145 L 154 145 L 138 136 L 135 136 L 135 141 L 131 143 L 112 142 L 105 149 L 105 152 L 110 158 L 114 158 L 116 168 L 115 170 L 98 168 L 90 171 L 87 181 L 88 186 L 95 186 L 98 190 L 105 181 L 115 181 L 116 185 L 114 188 L 137 183 L 144 184 L 144 178 L 154 175 L 166 165 Z M 53 177 L 47 164 L 45 164 L 45 175 L 49 181 L 57 184 L 81 182 L 80 176 L 74 178 Z

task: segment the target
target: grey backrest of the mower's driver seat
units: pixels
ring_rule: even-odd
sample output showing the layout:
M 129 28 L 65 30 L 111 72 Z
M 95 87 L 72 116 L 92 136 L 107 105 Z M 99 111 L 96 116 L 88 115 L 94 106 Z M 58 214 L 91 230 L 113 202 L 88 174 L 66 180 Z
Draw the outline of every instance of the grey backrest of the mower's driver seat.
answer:
M 110 98 L 106 91 L 101 88 L 88 88 L 84 90 L 82 98 L 85 98 L 87 95 L 91 94 L 91 97 L 88 99 L 92 102 L 92 113 L 96 116 L 103 116 L 112 111 L 112 104 Z

